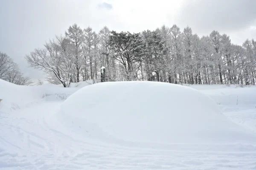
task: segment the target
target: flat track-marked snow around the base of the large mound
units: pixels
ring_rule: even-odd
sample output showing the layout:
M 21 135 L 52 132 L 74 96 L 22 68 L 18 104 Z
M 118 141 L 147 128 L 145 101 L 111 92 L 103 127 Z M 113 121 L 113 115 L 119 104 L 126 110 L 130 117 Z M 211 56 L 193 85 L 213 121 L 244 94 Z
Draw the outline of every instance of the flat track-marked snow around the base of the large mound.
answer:
M 0 112 L 0 129 L 5 130 L 0 133 L 0 170 L 256 169 L 256 146 L 251 145 L 186 150 L 186 146 L 128 147 L 75 139 L 58 122 L 62 102 L 41 100 L 9 114 Z M 231 110 L 228 108 L 224 114 L 233 122 L 256 130 L 256 110 Z

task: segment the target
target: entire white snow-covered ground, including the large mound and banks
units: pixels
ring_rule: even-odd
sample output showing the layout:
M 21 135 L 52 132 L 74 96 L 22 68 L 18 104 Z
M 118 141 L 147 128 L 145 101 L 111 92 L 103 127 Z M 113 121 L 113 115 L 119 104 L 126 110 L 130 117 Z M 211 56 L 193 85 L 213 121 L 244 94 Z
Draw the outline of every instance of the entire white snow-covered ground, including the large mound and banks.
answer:
M 0 79 L 0 170 L 256 169 L 256 88 L 90 84 Z

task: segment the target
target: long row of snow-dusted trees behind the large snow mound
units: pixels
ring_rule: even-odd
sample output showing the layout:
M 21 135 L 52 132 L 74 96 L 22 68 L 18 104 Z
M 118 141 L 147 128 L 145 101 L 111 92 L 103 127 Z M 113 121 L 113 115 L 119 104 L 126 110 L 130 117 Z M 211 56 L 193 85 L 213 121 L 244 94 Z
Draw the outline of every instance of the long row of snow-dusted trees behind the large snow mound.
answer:
M 159 81 L 188 84 L 255 85 L 256 42 L 242 46 L 212 31 L 198 37 L 190 27 L 162 26 L 141 33 L 99 33 L 88 27 L 70 26 L 65 35 L 49 40 L 26 57 L 30 67 L 42 69 L 47 81 L 69 87 L 71 82 Z

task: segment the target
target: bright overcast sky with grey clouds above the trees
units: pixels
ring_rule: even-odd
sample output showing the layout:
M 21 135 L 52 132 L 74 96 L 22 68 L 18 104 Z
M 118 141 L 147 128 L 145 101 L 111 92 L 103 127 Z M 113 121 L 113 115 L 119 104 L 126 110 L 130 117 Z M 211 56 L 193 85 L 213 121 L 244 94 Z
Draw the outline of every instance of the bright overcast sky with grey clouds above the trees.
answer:
M 190 26 L 193 33 L 217 30 L 242 45 L 256 39 L 256 0 L 0 0 L 0 51 L 8 54 L 33 80 L 44 73 L 28 68 L 26 54 L 73 23 L 98 32 L 141 32 L 166 25 Z

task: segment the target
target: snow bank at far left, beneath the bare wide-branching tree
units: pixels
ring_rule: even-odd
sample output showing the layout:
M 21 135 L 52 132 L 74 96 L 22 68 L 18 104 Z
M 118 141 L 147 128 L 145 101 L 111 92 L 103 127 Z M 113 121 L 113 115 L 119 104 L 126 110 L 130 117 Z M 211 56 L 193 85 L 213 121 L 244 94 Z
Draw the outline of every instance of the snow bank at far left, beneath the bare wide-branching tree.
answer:
M 81 82 L 81 86 L 89 85 L 90 82 Z M 78 85 L 79 86 L 79 85 Z M 38 86 L 15 85 L 0 79 L 0 111 L 10 112 L 23 105 L 35 102 L 39 99 L 66 99 L 78 88 L 63 88 L 58 85 L 44 84 Z

